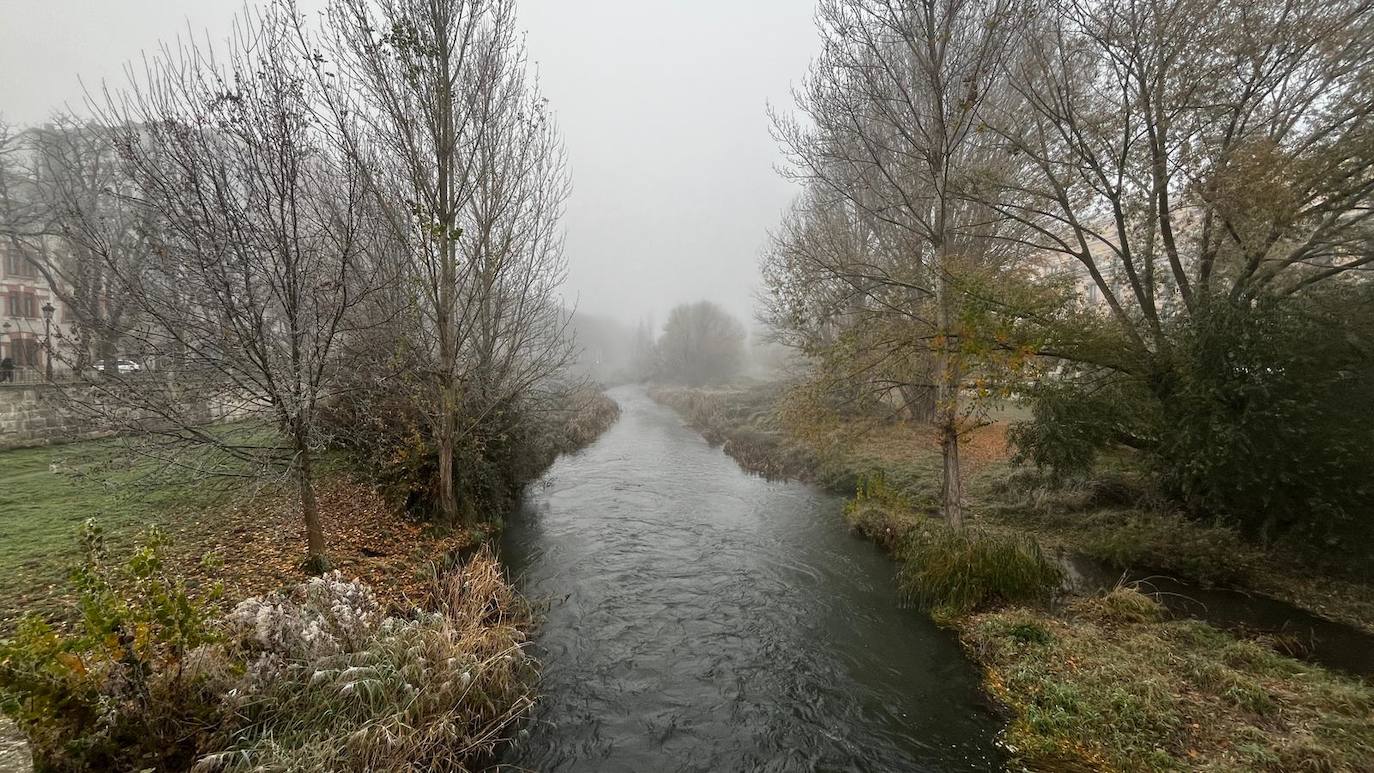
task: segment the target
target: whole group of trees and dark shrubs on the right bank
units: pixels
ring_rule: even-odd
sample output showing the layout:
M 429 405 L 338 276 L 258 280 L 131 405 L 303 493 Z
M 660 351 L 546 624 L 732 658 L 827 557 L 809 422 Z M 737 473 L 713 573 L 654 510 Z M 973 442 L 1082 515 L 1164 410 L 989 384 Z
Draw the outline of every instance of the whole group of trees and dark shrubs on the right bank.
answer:
M 816 411 L 959 438 L 1011 397 L 1063 478 L 1136 449 L 1198 516 L 1369 537 L 1367 0 L 822 0 L 764 259 Z M 1116 453 L 1116 452 L 1113 452 Z

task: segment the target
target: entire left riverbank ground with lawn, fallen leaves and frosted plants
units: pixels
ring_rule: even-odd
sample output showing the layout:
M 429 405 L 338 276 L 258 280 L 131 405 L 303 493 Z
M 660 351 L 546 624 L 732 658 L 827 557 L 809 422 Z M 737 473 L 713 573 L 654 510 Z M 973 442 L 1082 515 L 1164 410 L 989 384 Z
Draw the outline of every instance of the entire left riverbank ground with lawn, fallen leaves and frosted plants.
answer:
M 617 417 L 584 400 L 532 464 Z M 338 574 L 306 581 L 290 490 L 159 481 L 114 442 L 7 452 L 0 470 L 15 570 L 0 578 L 0 772 L 27 769 L 23 736 L 74 769 L 482 769 L 532 706 L 523 601 L 488 551 L 456 559 L 499 518 L 430 527 L 334 456 L 317 498 Z M 87 519 L 110 563 L 82 555 Z M 165 535 L 151 563 L 148 527 Z M 137 632 L 133 651 L 110 649 L 111 626 Z

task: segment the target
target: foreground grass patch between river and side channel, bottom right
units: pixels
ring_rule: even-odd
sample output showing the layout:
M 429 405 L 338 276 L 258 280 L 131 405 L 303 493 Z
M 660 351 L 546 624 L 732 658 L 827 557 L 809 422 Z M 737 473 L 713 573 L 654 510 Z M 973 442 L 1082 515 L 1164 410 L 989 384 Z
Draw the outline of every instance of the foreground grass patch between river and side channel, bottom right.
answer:
M 958 622 L 1037 770 L 1374 769 L 1374 688 L 1127 589 Z

